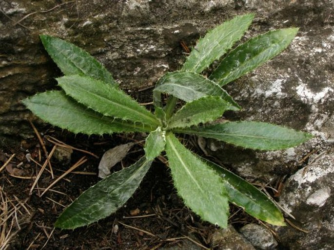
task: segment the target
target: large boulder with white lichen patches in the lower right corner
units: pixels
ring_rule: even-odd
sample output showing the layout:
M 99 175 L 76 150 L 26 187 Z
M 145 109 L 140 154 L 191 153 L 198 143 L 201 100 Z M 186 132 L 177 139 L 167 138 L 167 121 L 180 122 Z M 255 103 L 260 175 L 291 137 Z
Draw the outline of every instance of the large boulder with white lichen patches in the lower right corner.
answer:
M 286 182 L 280 205 L 295 216 L 290 225 L 277 229 L 281 243 L 290 249 L 334 247 L 334 151 L 325 151 Z

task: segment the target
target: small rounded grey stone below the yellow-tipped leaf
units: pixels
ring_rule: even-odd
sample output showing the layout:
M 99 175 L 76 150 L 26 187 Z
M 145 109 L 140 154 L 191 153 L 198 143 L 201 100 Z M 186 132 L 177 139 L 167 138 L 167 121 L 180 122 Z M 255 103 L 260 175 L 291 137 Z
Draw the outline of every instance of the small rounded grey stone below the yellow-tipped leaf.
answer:
M 239 231 L 249 240 L 256 249 L 270 250 L 275 249 L 277 241 L 273 234 L 266 228 L 257 224 L 248 224 Z

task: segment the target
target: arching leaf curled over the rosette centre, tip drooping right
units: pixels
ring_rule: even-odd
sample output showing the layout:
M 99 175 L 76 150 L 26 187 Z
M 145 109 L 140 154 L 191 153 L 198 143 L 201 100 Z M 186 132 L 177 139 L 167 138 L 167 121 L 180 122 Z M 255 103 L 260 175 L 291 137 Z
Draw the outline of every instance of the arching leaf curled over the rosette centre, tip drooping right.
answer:
M 174 71 L 160 77 L 153 90 L 153 100 L 156 107 L 161 106 L 161 93 L 168 93 L 185 102 L 191 102 L 208 95 L 219 96 L 239 108 L 232 97 L 214 81 L 189 71 Z

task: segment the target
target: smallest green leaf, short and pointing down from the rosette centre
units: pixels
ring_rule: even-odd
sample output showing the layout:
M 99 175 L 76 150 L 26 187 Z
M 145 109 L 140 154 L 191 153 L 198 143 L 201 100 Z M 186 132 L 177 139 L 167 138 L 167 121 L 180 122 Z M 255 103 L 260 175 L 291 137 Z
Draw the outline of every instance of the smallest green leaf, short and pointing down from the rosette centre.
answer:
M 158 157 L 165 149 L 165 144 L 166 131 L 161 130 L 161 127 L 157 127 L 157 129 L 152 131 L 146 138 L 144 150 L 147 160 L 152 161 Z

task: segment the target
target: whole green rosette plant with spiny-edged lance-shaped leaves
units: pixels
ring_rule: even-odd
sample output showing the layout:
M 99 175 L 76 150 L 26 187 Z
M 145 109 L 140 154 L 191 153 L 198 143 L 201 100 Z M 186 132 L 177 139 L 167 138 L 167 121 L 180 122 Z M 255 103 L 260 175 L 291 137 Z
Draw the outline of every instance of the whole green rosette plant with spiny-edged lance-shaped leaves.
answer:
M 260 220 L 285 225 L 270 198 L 227 169 L 196 156 L 177 139 L 178 134 L 189 134 L 255 150 L 278 150 L 312 138 L 308 133 L 262 122 L 213 123 L 226 110 L 240 109 L 222 87 L 279 54 L 298 31 L 272 30 L 231 50 L 253 18 L 252 14 L 237 16 L 199 39 L 182 69 L 168 72 L 157 81 L 154 113 L 119 89 L 111 73 L 87 52 L 59 38 L 40 36 L 64 76 L 57 78 L 62 90 L 39 93 L 23 101 L 32 112 L 73 133 L 149 133 L 145 155 L 82 193 L 59 216 L 56 227 L 75 229 L 116 212 L 163 152 L 178 195 L 202 220 L 225 228 L 228 202 L 232 202 Z M 202 75 L 216 60 L 219 64 L 211 75 Z M 162 93 L 169 96 L 166 104 Z M 178 99 L 184 105 L 176 110 Z

